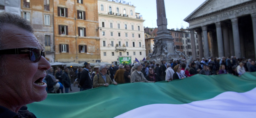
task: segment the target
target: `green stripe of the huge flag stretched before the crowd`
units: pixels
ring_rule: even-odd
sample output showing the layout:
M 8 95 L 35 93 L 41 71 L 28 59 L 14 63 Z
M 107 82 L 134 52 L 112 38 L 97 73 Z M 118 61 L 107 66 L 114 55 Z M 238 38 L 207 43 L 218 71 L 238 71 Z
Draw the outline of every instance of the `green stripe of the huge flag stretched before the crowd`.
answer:
M 246 92 L 256 87 L 256 72 L 195 75 L 183 80 L 109 85 L 65 94 L 48 94 L 28 105 L 38 118 L 113 118 L 149 104 L 186 104 L 211 99 L 222 92 Z

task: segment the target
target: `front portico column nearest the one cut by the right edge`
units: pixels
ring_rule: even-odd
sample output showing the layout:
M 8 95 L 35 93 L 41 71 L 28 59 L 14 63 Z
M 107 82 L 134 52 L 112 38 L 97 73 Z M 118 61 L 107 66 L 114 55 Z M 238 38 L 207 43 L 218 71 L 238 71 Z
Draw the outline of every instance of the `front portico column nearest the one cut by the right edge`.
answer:
M 240 47 L 240 37 L 239 37 L 239 29 L 238 29 L 238 19 L 231 19 L 232 22 L 232 30 L 233 30 L 233 38 L 234 38 L 234 51 L 235 56 L 237 58 L 241 58 L 241 47 Z

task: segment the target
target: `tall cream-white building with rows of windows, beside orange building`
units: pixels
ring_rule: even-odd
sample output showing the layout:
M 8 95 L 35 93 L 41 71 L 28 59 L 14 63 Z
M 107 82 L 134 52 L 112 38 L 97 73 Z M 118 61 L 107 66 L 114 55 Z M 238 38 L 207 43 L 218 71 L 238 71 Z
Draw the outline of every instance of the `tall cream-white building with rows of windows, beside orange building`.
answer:
M 101 62 L 112 63 L 119 57 L 131 57 L 131 62 L 146 58 L 145 20 L 135 13 L 135 6 L 98 0 Z

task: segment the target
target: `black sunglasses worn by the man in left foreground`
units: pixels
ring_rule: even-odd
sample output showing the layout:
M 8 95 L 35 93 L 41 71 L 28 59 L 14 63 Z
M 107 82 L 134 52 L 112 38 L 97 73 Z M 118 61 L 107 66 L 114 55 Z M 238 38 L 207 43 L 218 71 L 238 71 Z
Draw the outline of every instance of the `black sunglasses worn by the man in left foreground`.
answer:
M 32 62 L 38 62 L 41 56 L 45 57 L 45 52 L 38 48 L 13 48 L 13 49 L 2 49 L 0 55 L 20 55 L 29 54 L 28 57 Z

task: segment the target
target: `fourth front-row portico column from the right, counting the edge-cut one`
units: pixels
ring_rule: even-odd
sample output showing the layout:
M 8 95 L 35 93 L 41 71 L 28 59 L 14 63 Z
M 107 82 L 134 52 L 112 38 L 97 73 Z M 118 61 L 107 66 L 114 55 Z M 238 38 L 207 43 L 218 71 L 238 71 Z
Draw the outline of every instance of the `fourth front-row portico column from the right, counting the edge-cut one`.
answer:
M 207 26 L 202 26 L 202 30 L 203 30 L 203 36 L 204 36 L 204 57 L 208 58 L 209 57 L 209 43 L 208 43 L 208 35 L 207 35 Z

